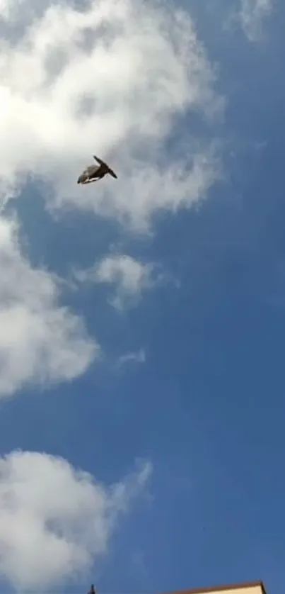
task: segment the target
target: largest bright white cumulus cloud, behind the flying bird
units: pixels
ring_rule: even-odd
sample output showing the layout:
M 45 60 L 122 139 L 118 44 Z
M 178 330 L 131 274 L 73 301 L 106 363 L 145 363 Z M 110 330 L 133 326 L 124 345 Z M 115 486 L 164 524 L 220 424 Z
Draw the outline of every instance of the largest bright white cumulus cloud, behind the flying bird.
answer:
M 30 174 L 53 208 L 145 230 L 158 209 L 207 194 L 220 173 L 211 143 L 182 127 L 171 163 L 164 150 L 177 116 L 210 122 L 223 106 L 188 13 L 154 0 L 1 0 L 0 33 L 2 203 Z M 94 152 L 119 179 L 78 187 Z

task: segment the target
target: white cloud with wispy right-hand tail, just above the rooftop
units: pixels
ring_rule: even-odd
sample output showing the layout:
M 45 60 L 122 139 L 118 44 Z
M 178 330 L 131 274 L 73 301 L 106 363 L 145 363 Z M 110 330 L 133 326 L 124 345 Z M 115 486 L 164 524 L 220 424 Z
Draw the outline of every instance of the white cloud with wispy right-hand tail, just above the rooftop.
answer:
M 146 486 L 151 463 L 111 487 L 38 452 L 0 458 L 0 573 L 45 590 L 88 571 L 107 552 L 118 516 Z

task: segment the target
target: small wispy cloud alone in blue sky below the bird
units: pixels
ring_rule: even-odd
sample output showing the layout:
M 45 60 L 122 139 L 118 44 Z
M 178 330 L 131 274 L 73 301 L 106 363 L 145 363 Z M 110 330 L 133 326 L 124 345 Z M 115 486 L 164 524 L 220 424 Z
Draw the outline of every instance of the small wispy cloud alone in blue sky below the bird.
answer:
M 123 309 L 135 305 L 141 293 L 156 284 L 153 276 L 154 265 L 143 264 L 127 255 L 106 256 L 88 270 L 75 271 L 74 276 L 81 282 L 109 284 L 115 287 L 115 296 L 110 300 L 112 306 Z

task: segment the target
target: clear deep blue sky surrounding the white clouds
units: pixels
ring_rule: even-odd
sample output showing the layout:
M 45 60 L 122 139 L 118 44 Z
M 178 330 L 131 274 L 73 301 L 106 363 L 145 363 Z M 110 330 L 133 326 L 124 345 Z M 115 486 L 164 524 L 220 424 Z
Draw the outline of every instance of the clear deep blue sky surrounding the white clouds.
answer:
M 90 209 L 54 218 L 34 181 L 7 206 L 33 267 L 70 281 L 111 250 L 165 274 L 123 310 L 105 284 L 64 285 L 61 303 L 83 317 L 103 358 L 72 381 L 31 379 L 1 402 L 1 456 L 62 456 L 105 485 L 136 460 L 153 466 L 107 553 L 62 592 L 91 581 L 99 593 L 141 594 L 257 579 L 283 592 L 285 6 L 276 1 L 249 40 L 240 23 L 225 25 L 226 1 L 183 5 L 226 104 L 210 123 L 186 110 L 165 159 L 181 130 L 184 141 L 193 127 L 202 144 L 216 142 L 223 176 L 207 198 L 151 213 L 151 234 Z M 144 362 L 120 365 L 140 349 Z M 15 583 L 1 571 L 4 593 Z

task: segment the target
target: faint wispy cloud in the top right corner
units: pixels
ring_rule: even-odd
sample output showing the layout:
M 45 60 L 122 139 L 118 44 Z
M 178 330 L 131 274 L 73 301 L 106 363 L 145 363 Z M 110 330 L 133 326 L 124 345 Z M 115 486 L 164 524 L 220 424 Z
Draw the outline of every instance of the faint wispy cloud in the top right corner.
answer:
M 241 0 L 240 23 L 250 41 L 260 38 L 262 21 L 272 12 L 272 0 Z

